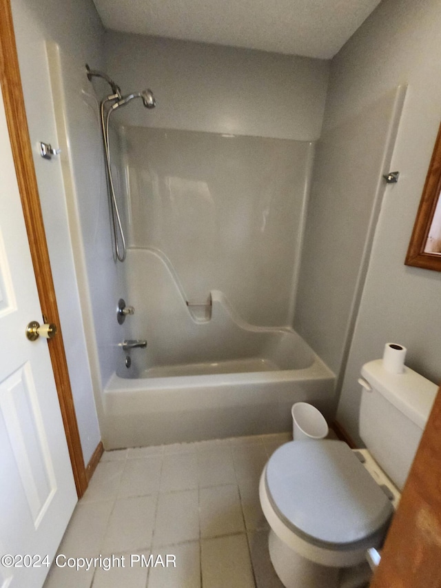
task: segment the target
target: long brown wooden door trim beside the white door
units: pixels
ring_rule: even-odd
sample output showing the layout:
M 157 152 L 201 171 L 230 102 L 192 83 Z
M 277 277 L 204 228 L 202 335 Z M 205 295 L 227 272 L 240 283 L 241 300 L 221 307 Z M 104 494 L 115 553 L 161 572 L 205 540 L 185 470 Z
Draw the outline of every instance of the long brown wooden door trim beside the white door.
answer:
M 63 334 L 61 333 L 48 245 L 43 228 L 43 214 L 32 159 L 10 0 L 0 0 L 0 14 L 1 92 L 5 103 L 12 156 L 19 184 L 21 205 L 23 207 L 26 231 L 28 232 L 30 254 L 37 281 L 43 320 L 45 323 L 55 323 L 59 328 L 57 336 L 48 341 L 48 348 L 57 386 L 65 436 L 68 442 L 76 492 L 81 498 L 88 487 L 88 479 L 70 387 L 68 363 L 65 356 Z M 23 325 L 23 336 L 24 331 L 25 325 Z

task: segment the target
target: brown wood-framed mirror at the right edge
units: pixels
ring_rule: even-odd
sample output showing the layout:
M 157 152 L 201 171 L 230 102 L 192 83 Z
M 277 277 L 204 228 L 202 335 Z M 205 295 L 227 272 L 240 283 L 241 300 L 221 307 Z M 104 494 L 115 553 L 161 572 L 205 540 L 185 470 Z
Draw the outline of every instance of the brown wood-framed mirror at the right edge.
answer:
M 422 191 L 405 265 L 441 272 L 441 125 Z

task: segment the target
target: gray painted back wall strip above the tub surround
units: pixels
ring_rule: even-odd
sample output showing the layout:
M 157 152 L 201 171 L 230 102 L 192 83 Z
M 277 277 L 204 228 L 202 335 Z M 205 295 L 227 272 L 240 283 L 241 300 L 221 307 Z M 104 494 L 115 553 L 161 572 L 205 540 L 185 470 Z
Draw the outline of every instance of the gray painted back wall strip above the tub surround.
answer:
M 123 93 L 154 91 L 158 106 L 117 113 L 125 125 L 314 141 L 329 62 L 256 50 L 105 33 L 106 70 Z

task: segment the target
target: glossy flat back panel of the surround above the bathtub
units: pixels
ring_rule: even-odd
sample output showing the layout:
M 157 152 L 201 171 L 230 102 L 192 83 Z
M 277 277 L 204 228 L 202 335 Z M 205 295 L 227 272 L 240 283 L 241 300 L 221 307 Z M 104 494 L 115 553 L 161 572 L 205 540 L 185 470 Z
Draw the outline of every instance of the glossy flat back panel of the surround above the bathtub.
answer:
M 292 325 L 313 145 L 141 126 L 122 138 L 130 247 L 163 252 L 189 302 L 221 290 L 249 323 Z

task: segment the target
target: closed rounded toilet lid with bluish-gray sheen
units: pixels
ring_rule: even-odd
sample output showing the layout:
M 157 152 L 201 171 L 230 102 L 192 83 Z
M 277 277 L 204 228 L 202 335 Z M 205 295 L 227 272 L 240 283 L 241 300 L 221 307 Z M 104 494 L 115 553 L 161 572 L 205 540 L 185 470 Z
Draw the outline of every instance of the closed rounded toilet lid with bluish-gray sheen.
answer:
M 271 505 L 294 533 L 319 547 L 345 548 L 386 527 L 393 507 L 346 443 L 291 441 L 267 463 Z

